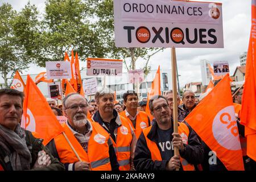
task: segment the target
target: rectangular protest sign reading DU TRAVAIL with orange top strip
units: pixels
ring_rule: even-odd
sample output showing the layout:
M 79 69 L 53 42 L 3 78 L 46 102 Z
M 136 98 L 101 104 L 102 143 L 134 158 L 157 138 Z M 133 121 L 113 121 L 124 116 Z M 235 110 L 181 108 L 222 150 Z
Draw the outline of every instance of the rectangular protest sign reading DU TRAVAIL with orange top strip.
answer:
M 87 58 L 87 76 L 122 76 L 123 61 Z

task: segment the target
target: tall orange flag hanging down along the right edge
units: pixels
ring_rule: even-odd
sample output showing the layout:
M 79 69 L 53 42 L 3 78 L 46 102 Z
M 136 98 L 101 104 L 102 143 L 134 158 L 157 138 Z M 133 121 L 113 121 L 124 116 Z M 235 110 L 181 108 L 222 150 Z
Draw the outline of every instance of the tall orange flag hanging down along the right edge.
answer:
M 247 52 L 245 85 L 243 86 L 241 124 L 245 125 L 247 156 L 256 161 L 256 0 L 251 1 L 251 35 Z

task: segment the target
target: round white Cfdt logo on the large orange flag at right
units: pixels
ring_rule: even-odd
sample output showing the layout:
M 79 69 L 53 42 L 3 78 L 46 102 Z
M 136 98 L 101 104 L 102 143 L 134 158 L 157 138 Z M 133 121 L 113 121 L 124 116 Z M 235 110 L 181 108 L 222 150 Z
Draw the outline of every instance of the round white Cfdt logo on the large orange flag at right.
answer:
M 217 113 L 213 119 L 212 132 L 222 147 L 241 150 L 234 106 L 227 106 Z

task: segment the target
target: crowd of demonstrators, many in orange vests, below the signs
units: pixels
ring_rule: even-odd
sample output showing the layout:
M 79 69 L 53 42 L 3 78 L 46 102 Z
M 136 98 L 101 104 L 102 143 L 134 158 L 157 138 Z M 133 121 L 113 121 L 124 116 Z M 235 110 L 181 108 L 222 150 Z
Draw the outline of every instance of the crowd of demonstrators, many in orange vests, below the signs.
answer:
M 199 102 L 209 92 L 202 94 Z M 233 101 L 243 162 L 246 170 L 255 170 L 254 160 L 246 155 L 245 127 L 240 125 L 242 92 L 240 89 Z M 144 112 L 147 100 L 139 102 L 134 90 L 125 92 L 123 102 L 117 104 L 114 104 L 112 90 L 106 88 L 98 91 L 89 102 L 78 93 L 68 94 L 61 109 L 55 100 L 47 98 L 56 116 L 67 117 L 67 123 L 62 126 L 73 148 L 63 134 L 57 135 L 45 147 L 42 139 L 20 127 L 23 97 L 24 94 L 17 90 L 0 90 L 0 170 L 154 171 L 179 168 L 193 171 L 201 170 L 200 165 L 206 171 L 226 170 L 217 157 L 216 163 L 209 163 L 212 151 L 185 122 L 185 117 L 197 105 L 191 90 L 184 92 L 182 101 L 177 96 L 178 128 L 185 134 L 182 136 L 173 129 L 172 90 L 149 101 L 154 116 L 152 121 Z M 174 147 L 178 148 L 179 156 L 174 155 Z

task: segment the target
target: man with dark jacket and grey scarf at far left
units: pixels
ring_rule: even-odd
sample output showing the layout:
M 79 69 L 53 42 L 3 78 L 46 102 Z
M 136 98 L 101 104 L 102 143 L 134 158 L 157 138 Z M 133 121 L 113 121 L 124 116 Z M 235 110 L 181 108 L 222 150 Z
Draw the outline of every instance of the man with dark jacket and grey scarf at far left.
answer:
M 64 170 L 43 139 L 20 127 L 23 100 L 18 90 L 0 89 L 0 171 Z

